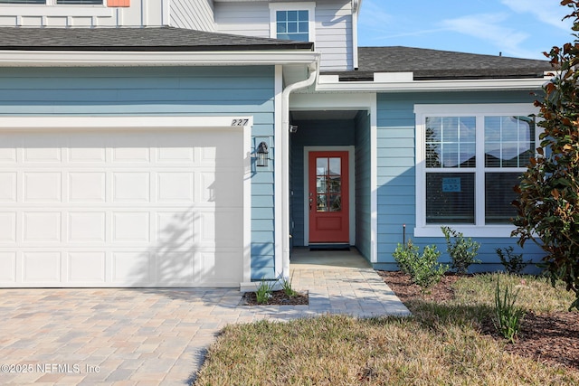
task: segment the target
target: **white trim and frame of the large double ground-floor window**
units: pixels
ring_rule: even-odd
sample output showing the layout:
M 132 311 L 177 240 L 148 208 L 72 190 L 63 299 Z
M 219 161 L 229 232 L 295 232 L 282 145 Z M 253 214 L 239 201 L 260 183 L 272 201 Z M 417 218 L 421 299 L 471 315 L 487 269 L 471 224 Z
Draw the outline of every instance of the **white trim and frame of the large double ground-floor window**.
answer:
M 484 117 L 491 116 L 528 116 L 536 114 L 538 109 L 527 103 L 501 104 L 460 104 L 460 105 L 415 105 L 416 115 L 416 227 L 414 237 L 441 237 L 440 224 L 426 225 L 426 184 L 425 184 L 425 149 L 424 133 L 426 117 L 469 117 L 476 116 L 477 127 L 484 127 Z M 538 128 L 536 128 L 538 144 Z M 484 160 L 484 130 L 477 130 L 477 159 Z M 482 145 L 481 145 L 482 144 Z M 462 170 L 462 169 L 460 169 Z M 477 191 L 475 193 L 475 221 L 484 221 L 484 165 L 464 169 L 464 172 L 475 172 Z M 459 170 L 457 170 L 458 172 Z M 502 168 L 504 172 L 518 172 L 520 168 Z M 466 237 L 509 237 L 514 225 L 469 225 L 448 224 L 453 230 L 460 231 Z

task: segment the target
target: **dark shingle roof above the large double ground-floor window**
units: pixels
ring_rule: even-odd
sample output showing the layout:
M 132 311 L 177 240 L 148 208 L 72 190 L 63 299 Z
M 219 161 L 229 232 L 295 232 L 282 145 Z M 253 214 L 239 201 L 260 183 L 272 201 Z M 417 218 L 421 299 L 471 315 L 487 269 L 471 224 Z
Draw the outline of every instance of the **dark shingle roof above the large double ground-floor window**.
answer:
M 340 80 L 373 80 L 374 72 L 410 72 L 414 80 L 542 78 L 548 61 L 412 47 L 359 47 L 357 71 Z

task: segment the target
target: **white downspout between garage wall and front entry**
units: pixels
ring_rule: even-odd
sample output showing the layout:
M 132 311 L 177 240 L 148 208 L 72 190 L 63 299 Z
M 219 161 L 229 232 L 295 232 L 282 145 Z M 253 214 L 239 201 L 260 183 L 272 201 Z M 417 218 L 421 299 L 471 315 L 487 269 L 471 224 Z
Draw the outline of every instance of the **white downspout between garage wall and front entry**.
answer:
M 314 84 L 318 78 L 318 61 L 309 65 L 311 72 L 307 80 L 292 83 L 281 93 L 281 261 L 286 279 L 289 278 L 289 94 Z

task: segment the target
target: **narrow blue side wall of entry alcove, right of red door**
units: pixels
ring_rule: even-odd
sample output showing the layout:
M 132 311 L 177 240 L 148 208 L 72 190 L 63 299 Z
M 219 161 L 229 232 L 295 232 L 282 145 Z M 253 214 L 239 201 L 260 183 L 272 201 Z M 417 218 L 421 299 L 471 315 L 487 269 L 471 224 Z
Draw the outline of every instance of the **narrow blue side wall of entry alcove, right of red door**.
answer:
M 360 111 L 356 115 L 356 248 L 368 260 L 371 258 L 370 243 L 371 207 L 370 193 L 370 115 Z

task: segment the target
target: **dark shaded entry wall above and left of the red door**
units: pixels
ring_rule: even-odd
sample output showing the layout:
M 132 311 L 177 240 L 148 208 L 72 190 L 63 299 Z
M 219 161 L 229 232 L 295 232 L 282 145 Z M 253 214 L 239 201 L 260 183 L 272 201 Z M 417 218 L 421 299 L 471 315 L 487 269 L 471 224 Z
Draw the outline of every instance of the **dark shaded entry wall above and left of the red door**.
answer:
M 304 146 L 354 145 L 353 120 L 295 121 L 298 132 L 290 135 L 291 141 L 291 221 L 292 243 L 303 246 L 304 239 Z

